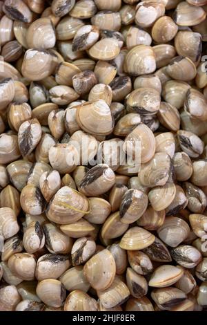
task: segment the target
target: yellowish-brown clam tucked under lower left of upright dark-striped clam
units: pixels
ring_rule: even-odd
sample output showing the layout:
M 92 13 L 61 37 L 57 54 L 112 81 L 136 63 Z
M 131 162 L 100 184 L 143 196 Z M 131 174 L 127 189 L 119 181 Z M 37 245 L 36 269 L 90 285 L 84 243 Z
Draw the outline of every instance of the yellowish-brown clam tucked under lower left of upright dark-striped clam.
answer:
M 111 214 L 103 223 L 101 237 L 103 239 L 113 239 L 122 236 L 128 230 L 128 223 L 121 222 L 119 212 Z

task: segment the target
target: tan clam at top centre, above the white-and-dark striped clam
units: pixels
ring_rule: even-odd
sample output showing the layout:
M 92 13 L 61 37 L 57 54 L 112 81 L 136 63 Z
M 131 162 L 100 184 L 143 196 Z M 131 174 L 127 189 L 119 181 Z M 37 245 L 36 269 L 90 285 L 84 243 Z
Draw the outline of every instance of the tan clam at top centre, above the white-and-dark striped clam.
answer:
M 121 15 L 119 12 L 103 10 L 93 16 L 91 23 L 103 30 L 119 30 L 121 28 Z

